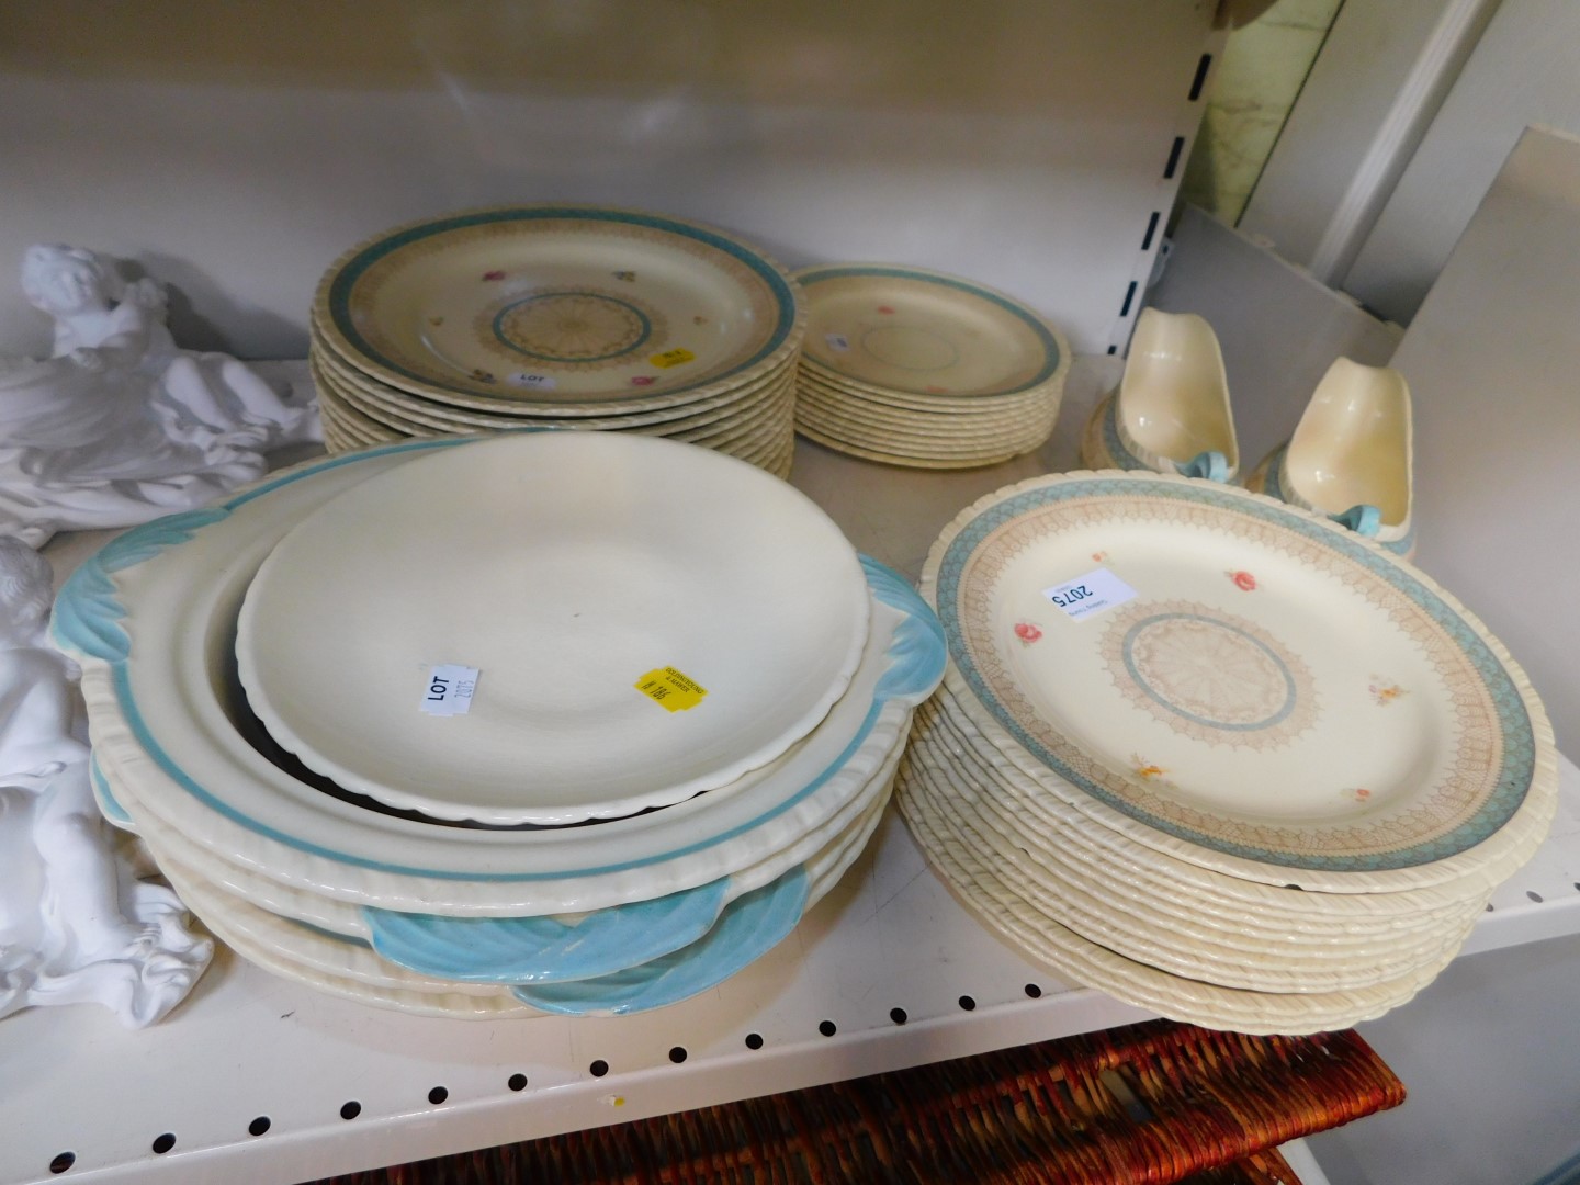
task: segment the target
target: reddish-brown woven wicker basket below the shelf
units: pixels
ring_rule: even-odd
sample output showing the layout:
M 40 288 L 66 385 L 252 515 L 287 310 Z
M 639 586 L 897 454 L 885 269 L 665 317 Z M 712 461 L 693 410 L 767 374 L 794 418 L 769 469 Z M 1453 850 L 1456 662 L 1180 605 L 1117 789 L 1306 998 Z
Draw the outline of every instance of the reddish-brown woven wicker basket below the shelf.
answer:
M 1299 1185 L 1277 1144 L 1401 1101 L 1354 1032 L 1152 1021 L 333 1182 Z

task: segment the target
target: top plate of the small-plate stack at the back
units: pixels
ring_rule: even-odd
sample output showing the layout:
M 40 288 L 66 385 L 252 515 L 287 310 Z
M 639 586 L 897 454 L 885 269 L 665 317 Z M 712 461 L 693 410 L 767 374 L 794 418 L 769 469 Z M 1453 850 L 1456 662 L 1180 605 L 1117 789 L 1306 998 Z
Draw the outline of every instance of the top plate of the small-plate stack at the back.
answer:
M 1025 305 L 918 267 L 831 264 L 796 272 L 804 354 L 844 379 L 912 395 L 995 397 L 1055 381 L 1070 349 Z

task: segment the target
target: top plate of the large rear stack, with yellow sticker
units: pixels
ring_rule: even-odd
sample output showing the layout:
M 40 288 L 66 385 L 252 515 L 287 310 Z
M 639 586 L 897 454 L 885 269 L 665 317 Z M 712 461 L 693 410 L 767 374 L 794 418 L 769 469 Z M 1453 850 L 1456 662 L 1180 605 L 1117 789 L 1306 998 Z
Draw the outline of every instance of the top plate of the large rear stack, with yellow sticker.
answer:
M 352 248 L 313 318 L 356 370 L 439 403 L 602 414 L 702 398 L 795 354 L 776 262 L 679 218 L 525 205 Z

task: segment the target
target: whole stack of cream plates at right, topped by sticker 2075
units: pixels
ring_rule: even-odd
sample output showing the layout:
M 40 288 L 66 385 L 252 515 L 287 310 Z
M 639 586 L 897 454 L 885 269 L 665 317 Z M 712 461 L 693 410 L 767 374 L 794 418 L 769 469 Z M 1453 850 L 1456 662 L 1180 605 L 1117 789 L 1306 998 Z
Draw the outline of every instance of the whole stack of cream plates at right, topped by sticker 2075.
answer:
M 1315 1032 L 1424 988 L 1556 809 L 1542 705 L 1447 592 L 1259 495 L 1066 474 L 962 512 L 899 803 L 1062 975 Z

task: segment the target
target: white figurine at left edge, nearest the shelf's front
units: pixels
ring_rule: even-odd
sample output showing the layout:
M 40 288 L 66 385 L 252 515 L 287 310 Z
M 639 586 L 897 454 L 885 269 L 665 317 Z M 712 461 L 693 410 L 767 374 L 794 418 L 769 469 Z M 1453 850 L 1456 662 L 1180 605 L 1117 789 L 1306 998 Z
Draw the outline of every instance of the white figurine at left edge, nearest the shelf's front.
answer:
M 76 665 L 44 637 L 49 561 L 0 539 L 0 1018 L 101 1003 L 141 1027 L 171 1011 L 213 942 L 115 852 L 88 782 Z

